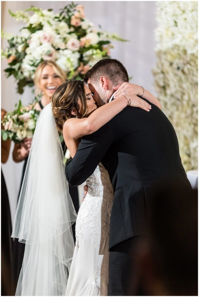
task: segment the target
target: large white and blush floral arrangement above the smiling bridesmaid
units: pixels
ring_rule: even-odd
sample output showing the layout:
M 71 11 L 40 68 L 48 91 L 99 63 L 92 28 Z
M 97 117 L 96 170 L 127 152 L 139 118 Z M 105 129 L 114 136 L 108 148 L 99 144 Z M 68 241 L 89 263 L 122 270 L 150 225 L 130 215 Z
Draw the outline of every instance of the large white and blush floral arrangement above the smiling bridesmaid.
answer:
M 29 13 L 32 13 L 30 15 Z M 126 41 L 117 34 L 97 30 L 85 18 L 84 7 L 73 2 L 60 13 L 52 9 L 31 7 L 10 15 L 26 23 L 17 36 L 2 32 L 8 47 L 2 50 L 9 67 L 7 77 L 18 81 L 18 93 L 33 86 L 35 69 L 44 60 L 54 60 L 67 73 L 68 79 L 83 79 L 100 59 L 109 58 L 110 40 Z

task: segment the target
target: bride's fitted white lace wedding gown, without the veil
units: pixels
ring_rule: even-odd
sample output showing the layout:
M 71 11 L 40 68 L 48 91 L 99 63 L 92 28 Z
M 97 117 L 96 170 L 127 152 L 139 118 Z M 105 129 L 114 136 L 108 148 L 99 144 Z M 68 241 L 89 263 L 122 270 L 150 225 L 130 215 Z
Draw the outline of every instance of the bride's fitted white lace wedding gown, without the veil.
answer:
M 76 246 L 66 296 L 107 296 L 109 223 L 113 189 L 100 163 L 87 179 L 88 193 L 76 220 Z

